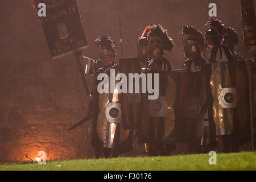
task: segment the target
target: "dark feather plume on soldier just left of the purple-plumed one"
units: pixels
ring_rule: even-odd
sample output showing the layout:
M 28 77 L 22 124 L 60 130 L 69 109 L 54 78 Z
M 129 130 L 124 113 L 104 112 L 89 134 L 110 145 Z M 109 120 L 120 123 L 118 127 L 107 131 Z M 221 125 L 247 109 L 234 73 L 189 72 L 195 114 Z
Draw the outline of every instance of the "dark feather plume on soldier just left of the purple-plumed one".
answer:
M 195 44 L 197 44 L 200 49 L 204 49 L 206 47 L 202 32 L 200 32 L 196 28 L 185 25 L 182 29 L 182 34 L 187 35 L 188 40 L 192 40 L 193 42 L 195 42 Z

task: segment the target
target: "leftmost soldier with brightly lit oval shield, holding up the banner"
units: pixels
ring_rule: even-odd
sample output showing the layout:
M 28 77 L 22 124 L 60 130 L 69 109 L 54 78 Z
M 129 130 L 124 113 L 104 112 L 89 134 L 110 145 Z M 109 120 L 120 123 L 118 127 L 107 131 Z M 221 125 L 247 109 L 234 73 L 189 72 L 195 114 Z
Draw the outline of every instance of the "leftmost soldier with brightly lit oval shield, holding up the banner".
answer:
M 114 63 L 116 58 L 116 46 L 110 36 L 99 36 L 95 40 L 96 45 L 101 48 L 100 59 L 89 60 L 87 73 L 94 75 L 92 97 L 89 104 L 88 115 L 93 115 L 92 121 L 92 146 L 95 158 L 102 154 L 108 158 L 112 152 L 117 155 L 117 148 L 123 134 L 121 127 L 121 104 L 118 93 L 98 93 L 97 86 L 101 81 L 97 80 L 100 73 L 106 73 L 110 77 L 110 69 L 118 73 L 118 64 Z M 112 107 L 112 108 L 111 108 Z M 128 131 L 128 130 L 127 130 Z M 114 149 L 114 150 L 113 150 Z

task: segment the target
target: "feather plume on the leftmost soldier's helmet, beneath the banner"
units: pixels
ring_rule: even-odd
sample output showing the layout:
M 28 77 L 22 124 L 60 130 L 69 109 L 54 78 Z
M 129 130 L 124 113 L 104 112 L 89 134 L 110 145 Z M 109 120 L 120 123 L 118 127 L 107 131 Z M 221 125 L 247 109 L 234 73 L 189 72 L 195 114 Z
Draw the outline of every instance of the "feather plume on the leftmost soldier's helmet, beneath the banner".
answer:
M 116 46 L 114 40 L 112 39 L 112 37 L 110 37 L 108 35 L 98 36 L 94 41 L 98 47 L 100 46 L 100 47 L 106 47 L 106 48 L 110 49 L 113 52 L 114 57 L 116 58 L 117 46 Z

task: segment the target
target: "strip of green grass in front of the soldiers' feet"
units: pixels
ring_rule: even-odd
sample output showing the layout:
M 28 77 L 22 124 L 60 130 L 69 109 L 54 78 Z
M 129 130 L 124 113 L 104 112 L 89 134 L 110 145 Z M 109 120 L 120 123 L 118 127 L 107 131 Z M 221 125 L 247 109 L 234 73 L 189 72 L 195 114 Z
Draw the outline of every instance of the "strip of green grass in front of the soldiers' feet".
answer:
M 46 165 L 0 164 L 0 170 L 256 170 L 256 152 L 217 154 L 217 164 L 209 165 L 208 154 L 79 159 L 46 162 Z M 60 166 L 57 166 L 60 165 Z

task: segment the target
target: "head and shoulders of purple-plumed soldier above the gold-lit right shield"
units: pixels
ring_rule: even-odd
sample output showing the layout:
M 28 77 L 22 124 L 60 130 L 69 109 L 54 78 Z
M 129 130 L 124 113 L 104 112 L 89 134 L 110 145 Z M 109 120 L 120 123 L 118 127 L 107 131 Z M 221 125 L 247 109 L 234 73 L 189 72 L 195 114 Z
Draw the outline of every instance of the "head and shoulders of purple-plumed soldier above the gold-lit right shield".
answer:
M 207 47 L 212 49 L 209 62 L 233 61 L 233 55 L 228 46 L 222 44 L 224 40 L 224 24 L 217 19 L 210 19 L 207 24 L 209 29 L 205 32 L 205 40 Z

